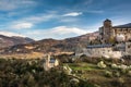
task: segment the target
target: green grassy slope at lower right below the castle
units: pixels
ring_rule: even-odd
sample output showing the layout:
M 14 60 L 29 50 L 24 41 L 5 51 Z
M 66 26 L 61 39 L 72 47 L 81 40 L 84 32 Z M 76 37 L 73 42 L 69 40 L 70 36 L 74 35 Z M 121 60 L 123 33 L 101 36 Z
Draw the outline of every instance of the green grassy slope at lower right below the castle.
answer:
M 68 63 L 73 72 L 83 79 L 96 84 L 100 87 L 130 87 L 131 78 L 124 74 L 120 76 L 105 76 L 106 71 L 114 72 L 111 67 L 99 69 L 92 63 Z M 117 71 L 118 72 L 118 71 Z

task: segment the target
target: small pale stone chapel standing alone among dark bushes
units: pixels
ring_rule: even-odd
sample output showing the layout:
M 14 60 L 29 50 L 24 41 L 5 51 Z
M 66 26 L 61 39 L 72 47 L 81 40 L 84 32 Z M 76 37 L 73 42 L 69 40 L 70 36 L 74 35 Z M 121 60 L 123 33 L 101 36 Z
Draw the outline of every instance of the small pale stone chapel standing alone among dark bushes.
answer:
M 47 55 L 44 59 L 44 69 L 46 71 L 48 71 L 51 67 L 58 66 L 59 65 L 59 61 L 50 55 Z

